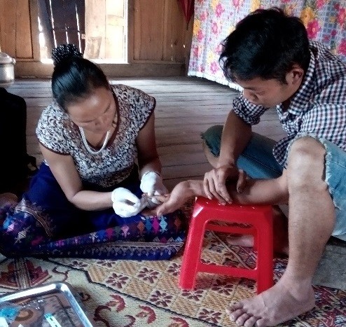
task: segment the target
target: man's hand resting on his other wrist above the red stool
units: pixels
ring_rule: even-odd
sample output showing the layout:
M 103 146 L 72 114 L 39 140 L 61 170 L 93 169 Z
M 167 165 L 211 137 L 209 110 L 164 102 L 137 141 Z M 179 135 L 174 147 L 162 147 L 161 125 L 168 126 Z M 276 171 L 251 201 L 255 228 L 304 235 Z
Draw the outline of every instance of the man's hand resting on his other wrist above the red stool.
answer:
M 212 200 L 213 197 L 221 204 L 232 203 L 232 198 L 226 188 L 226 183 L 236 183 L 238 193 L 242 193 L 246 185 L 247 174 L 242 169 L 238 169 L 234 165 L 224 165 L 214 168 L 210 172 L 205 173 L 203 188 L 207 197 Z

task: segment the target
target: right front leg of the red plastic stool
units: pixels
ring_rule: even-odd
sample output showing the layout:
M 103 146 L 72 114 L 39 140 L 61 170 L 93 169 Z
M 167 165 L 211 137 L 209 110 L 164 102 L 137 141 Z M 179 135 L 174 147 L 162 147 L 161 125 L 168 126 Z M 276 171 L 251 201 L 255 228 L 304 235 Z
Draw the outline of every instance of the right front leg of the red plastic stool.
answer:
M 272 218 L 263 217 L 257 226 L 257 294 L 273 285 Z

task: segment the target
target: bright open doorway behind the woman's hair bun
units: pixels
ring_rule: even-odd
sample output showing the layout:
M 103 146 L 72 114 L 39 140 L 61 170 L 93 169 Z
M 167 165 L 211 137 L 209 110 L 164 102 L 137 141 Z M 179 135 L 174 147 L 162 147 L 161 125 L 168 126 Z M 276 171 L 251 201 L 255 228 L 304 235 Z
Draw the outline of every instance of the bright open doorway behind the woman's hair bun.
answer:
M 84 57 L 127 62 L 127 0 L 39 0 L 41 61 L 52 48 L 74 43 Z

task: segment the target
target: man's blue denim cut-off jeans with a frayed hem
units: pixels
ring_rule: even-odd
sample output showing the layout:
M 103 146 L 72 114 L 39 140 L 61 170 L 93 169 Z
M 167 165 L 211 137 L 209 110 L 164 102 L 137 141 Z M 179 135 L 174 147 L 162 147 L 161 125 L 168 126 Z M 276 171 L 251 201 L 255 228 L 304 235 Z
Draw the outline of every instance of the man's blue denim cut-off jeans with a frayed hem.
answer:
M 223 126 L 210 127 L 202 133 L 202 139 L 209 151 L 215 156 L 220 155 L 221 134 Z M 306 134 L 302 137 L 314 137 Z M 335 206 L 335 228 L 332 235 L 346 241 L 346 153 L 326 139 L 317 139 L 326 148 L 326 183 Z M 282 174 L 283 167 L 272 155 L 275 141 L 260 134 L 253 133 L 237 160 L 237 167 L 244 169 L 254 179 L 275 179 Z

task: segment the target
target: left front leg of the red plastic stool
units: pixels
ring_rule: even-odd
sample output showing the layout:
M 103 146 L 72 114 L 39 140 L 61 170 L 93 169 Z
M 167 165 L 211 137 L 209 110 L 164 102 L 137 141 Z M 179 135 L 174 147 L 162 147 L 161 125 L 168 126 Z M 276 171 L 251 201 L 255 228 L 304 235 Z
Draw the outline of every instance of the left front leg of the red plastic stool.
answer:
M 179 286 L 184 289 L 195 288 L 198 266 L 200 265 L 200 253 L 202 252 L 205 224 L 207 223 L 207 221 L 200 219 L 200 215 L 191 219 L 186 239 L 179 277 Z

